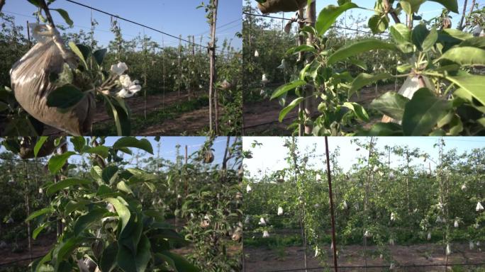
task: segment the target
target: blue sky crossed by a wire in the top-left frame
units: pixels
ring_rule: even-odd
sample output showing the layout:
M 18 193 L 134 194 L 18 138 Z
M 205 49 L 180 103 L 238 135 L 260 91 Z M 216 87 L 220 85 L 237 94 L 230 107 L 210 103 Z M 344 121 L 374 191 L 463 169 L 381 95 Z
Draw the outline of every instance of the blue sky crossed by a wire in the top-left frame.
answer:
M 204 8 L 196 9 L 202 0 L 76 0 L 81 4 L 92 6 L 109 13 L 116 14 L 123 18 L 128 18 L 146 26 L 162 30 L 172 35 L 182 35 L 186 38 L 188 35 L 195 35 L 196 42 L 199 43 L 201 35 L 204 35 L 204 45 L 207 45 L 209 26 L 206 22 L 206 13 Z M 205 1 L 207 2 L 207 0 Z M 91 28 L 91 11 L 89 8 L 72 4 L 65 0 L 57 0 L 51 8 L 63 8 L 74 21 L 72 32 L 78 32 L 80 29 L 89 31 Z M 16 16 L 16 23 L 26 26 L 26 21 L 35 21 L 32 13 L 36 11 L 35 6 L 27 0 L 6 0 L 2 12 Z M 223 39 L 234 39 L 232 45 L 236 48 L 242 47 L 242 40 L 235 38 L 235 33 L 240 32 L 242 28 L 241 18 L 242 6 L 240 1 L 220 0 L 218 8 L 218 30 L 217 38 L 220 42 Z M 93 11 L 93 18 L 98 21 L 96 26 L 95 38 L 101 42 L 101 45 L 107 45 L 109 40 L 113 39 L 113 33 L 109 31 L 111 27 L 110 16 Z M 54 22 L 62 22 L 62 18 L 57 12 L 52 13 Z M 122 34 L 126 39 L 135 38 L 138 34 L 143 34 L 143 28 L 125 21 L 121 23 Z M 145 34 L 152 37 L 153 40 L 162 44 L 162 34 L 152 30 L 145 29 Z M 178 45 L 178 40 L 165 36 L 165 45 Z

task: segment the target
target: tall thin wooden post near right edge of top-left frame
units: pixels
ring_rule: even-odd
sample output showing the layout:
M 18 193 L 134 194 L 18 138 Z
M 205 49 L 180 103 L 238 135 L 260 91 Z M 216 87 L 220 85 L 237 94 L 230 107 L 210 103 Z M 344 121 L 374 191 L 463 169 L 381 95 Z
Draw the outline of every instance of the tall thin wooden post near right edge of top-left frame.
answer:
M 209 42 L 209 58 L 210 58 L 210 71 L 209 71 L 209 130 L 211 134 L 213 133 L 213 118 L 212 118 L 212 109 L 213 103 L 216 102 L 216 92 L 214 91 L 214 84 L 216 83 L 216 23 L 217 23 L 217 7 L 218 7 L 218 0 L 211 1 L 211 8 L 212 8 L 212 18 L 211 18 L 211 42 Z M 214 97 L 213 97 L 214 94 Z M 217 109 L 217 105 L 214 105 L 214 108 Z M 217 110 L 216 110 L 217 111 Z M 216 134 L 218 132 L 218 120 L 217 120 L 217 113 L 216 113 Z

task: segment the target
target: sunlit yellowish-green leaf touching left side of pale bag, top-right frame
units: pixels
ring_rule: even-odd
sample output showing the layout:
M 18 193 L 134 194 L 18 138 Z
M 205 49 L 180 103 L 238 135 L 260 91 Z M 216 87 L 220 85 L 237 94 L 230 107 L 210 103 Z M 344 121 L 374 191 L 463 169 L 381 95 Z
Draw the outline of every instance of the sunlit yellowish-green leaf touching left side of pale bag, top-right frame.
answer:
M 401 96 L 401 94 L 398 94 L 395 91 L 388 91 L 386 94 L 375 98 L 370 103 L 370 106 L 391 118 L 402 120 L 404 109 L 408 102 L 409 99 Z

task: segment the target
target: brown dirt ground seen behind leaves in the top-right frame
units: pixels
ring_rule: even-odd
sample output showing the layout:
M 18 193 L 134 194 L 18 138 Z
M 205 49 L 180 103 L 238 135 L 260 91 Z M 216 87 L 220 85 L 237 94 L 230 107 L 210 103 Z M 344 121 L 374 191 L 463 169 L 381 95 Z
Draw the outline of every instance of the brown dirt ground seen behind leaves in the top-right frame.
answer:
M 365 106 L 377 96 L 386 93 L 386 91 L 394 91 L 394 89 L 394 84 L 378 86 L 377 92 L 375 86 L 368 87 L 362 89 L 358 97 L 356 95 L 352 96 L 350 100 Z M 289 97 L 287 101 L 292 101 L 293 98 Z M 298 108 L 294 108 L 293 111 L 286 115 L 284 121 L 279 123 L 278 116 L 281 109 L 277 99 L 245 103 L 243 108 L 245 135 L 291 135 L 291 131 L 286 130 L 286 128 L 298 115 Z M 316 111 L 316 113 L 318 112 Z M 375 123 L 379 120 L 377 118 L 372 121 Z

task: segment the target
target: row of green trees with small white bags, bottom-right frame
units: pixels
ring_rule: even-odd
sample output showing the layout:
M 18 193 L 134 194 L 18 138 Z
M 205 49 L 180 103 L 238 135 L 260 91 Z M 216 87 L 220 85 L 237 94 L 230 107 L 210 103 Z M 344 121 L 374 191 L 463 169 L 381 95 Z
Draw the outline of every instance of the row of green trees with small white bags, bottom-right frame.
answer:
M 445 152 L 445 142 L 437 140 L 435 158 L 420 149 L 355 138 L 352 144 L 370 155 L 357 157 L 347 171 L 338 161 L 340 149 L 330 153 L 338 245 L 362 244 L 366 231 L 372 233 L 367 244 L 377 245 L 383 254 L 393 243 L 444 247 L 483 241 L 485 214 L 475 207 L 484 199 L 485 173 L 480 165 L 485 149 Z M 288 152 L 282 159 L 287 166 L 244 177 L 243 186 L 252 189 L 244 195 L 244 244 L 278 248 L 303 246 L 306 240 L 310 251 L 328 249 L 331 226 L 326 173 L 318 170 L 322 168 L 318 160 L 318 165 L 310 161 L 318 158 L 318 145 L 303 151 L 298 140 L 287 138 L 284 147 Z M 433 169 L 428 169 L 428 162 Z M 282 215 L 277 214 L 279 207 Z M 260 224 L 261 217 L 265 225 Z M 455 220 L 459 227 L 454 227 Z M 262 237 L 264 231 L 269 237 Z M 328 256 L 320 255 L 319 260 L 328 263 Z

